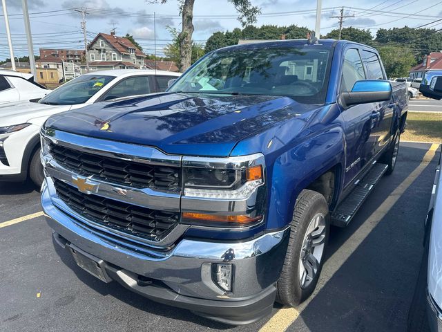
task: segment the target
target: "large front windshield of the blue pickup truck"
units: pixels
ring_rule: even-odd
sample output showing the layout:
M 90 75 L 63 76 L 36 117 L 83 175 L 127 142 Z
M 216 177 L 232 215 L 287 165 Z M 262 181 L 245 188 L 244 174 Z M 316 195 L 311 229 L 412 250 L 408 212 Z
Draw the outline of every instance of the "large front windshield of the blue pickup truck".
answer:
M 169 92 L 284 95 L 323 103 L 329 48 L 319 45 L 218 50 L 180 77 Z

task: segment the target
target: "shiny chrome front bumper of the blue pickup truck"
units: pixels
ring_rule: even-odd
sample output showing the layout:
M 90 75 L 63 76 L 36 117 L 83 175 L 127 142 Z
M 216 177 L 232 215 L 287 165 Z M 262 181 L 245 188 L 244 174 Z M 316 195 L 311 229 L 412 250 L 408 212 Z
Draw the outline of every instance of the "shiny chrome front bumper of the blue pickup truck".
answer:
M 206 317 L 215 320 L 218 317 L 222 322 L 233 324 L 252 322 L 259 317 L 247 318 L 246 315 L 244 320 L 230 320 L 226 318 L 229 314 L 226 314 L 224 318 L 220 318 L 223 317 L 222 311 L 219 311 L 221 307 L 241 307 L 242 303 L 247 302 L 244 311 L 248 312 L 247 308 L 253 304 L 259 309 L 256 311 L 254 308 L 253 312 L 260 312 L 260 317 L 264 306 L 266 311 L 271 310 L 269 303 L 273 304 L 275 299 L 275 284 L 285 259 L 289 228 L 263 234 L 245 242 L 182 239 L 166 251 L 155 248 L 134 250 L 130 246 L 124 246 L 121 241 L 116 243 L 107 234 L 84 227 L 84 224 L 57 208 L 52 203 L 48 186 L 45 184 L 42 187 L 41 204 L 55 239 L 61 246 L 72 244 L 110 263 L 114 270 L 116 266 L 114 273 L 110 273 L 112 279 L 116 279 L 137 293 L 160 302 L 164 302 L 161 301 L 162 297 L 167 298 L 164 294 L 160 297 L 149 295 L 148 288 L 151 286 L 142 287 L 142 290 L 137 289 L 140 288 L 136 282 L 137 275 L 148 277 L 162 282 L 165 285 L 163 291 L 168 293 L 169 297 L 173 295 L 171 297 L 173 300 L 167 304 L 189 308 Z M 234 266 L 231 293 L 224 293 L 211 277 L 211 264 L 226 261 Z M 188 303 L 191 298 L 193 302 L 198 302 L 197 308 Z M 182 299 L 186 300 L 183 302 Z M 200 307 L 203 302 L 210 304 Z M 240 313 L 241 310 L 237 309 Z

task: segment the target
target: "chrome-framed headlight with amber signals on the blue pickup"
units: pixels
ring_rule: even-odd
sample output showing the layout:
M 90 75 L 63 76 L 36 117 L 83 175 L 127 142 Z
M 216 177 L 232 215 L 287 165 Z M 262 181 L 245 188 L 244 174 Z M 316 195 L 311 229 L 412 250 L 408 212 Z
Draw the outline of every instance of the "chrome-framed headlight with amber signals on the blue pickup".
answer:
M 230 158 L 184 157 L 182 163 L 184 223 L 242 228 L 264 219 L 266 190 L 262 154 Z M 187 205 L 190 201 L 192 203 Z M 216 208 L 220 206 L 217 204 L 222 208 Z

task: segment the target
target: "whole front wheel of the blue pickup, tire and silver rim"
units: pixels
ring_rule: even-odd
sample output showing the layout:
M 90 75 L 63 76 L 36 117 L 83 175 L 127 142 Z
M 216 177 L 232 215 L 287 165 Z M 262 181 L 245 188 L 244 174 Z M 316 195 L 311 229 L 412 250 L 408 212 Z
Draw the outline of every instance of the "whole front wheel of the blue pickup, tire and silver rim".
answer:
M 291 221 L 289 246 L 276 301 L 296 306 L 313 293 L 323 268 L 329 236 L 329 209 L 323 195 L 302 190 Z

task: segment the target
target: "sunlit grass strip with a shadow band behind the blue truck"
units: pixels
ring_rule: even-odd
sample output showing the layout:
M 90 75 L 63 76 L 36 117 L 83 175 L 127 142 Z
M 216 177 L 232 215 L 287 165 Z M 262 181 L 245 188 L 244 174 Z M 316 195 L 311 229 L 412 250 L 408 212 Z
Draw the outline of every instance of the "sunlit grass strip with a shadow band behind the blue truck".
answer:
M 442 114 L 408 112 L 407 127 L 401 140 L 442 142 Z

